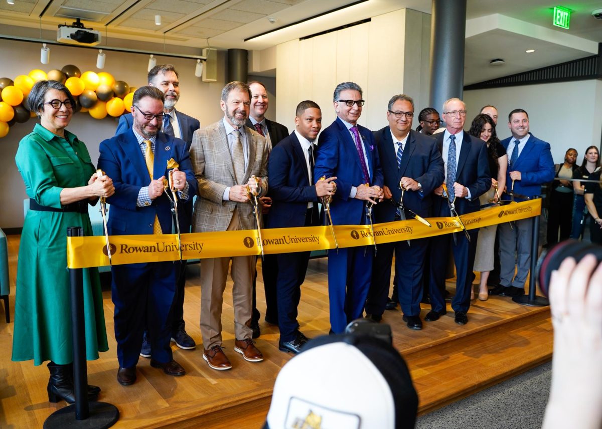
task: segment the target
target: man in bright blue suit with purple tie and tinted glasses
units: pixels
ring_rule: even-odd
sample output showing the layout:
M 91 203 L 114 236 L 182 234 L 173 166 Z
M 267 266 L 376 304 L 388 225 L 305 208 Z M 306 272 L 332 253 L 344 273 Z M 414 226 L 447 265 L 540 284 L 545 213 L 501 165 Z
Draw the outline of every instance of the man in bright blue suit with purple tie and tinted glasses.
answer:
M 337 119 L 318 139 L 314 182 L 337 177 L 337 191 L 330 206 L 335 225 L 364 225 L 367 205 L 382 199 L 383 177 L 372 132 L 358 125 L 362 114 L 362 88 L 355 82 L 338 84 L 334 91 Z M 372 246 L 340 248 L 328 252 L 330 327 L 342 333 L 361 317 L 370 277 Z

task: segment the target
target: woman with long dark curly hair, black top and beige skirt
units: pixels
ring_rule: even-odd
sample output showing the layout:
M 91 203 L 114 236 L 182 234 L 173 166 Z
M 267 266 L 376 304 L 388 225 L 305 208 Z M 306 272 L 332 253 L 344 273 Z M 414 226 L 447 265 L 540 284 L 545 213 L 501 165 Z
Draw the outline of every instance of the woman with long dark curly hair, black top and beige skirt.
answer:
M 500 139 L 495 134 L 495 123 L 490 116 L 479 114 L 473 119 L 468 134 L 480 138 L 487 144 L 487 159 L 489 161 L 489 174 L 491 174 L 491 188 L 479 197 L 481 205 L 489 200 L 497 201 L 498 194 L 506 186 L 506 168 L 508 167 L 508 155 L 506 149 L 501 145 Z M 495 191 L 497 187 L 498 192 Z M 479 229 L 477 238 L 477 250 L 474 257 L 473 271 L 480 271 L 479 300 L 486 301 L 489 292 L 487 279 L 489 271 L 493 270 L 495 231 L 497 225 L 485 226 Z M 471 289 L 470 298 L 474 299 L 474 291 Z

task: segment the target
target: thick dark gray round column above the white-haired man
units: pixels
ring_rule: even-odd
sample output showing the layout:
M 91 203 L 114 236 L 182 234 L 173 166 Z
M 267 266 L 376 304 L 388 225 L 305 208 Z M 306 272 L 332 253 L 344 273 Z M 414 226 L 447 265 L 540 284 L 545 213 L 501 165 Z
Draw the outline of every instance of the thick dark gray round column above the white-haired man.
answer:
M 462 99 L 466 0 L 433 0 L 430 25 L 430 106 Z

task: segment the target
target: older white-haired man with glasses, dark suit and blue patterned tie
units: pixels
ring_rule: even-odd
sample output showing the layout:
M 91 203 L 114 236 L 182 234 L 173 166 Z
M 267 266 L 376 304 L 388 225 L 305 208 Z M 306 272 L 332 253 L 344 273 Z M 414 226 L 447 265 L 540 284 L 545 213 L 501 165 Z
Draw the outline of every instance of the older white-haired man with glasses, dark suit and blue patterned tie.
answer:
M 450 199 L 455 197 L 455 208 L 458 215 L 476 212 L 480 208 L 479 196 L 491 187 L 487 147 L 482 140 L 471 137 L 464 132 L 466 105 L 457 98 L 443 103 L 445 131 L 436 135 L 439 150 L 445 162 L 445 183 Z M 449 217 L 450 208 L 447 198 L 443 197 L 442 186 L 436 188 L 433 204 L 434 217 Z M 452 300 L 455 311 L 455 322 L 459 325 L 468 323 L 468 307 L 470 307 L 470 288 L 474 253 L 477 247 L 478 229 L 468 231 L 470 241 L 464 232 L 434 236 L 430 242 L 430 305 L 432 310 L 424 320 L 435 321 L 447 313 L 445 309 L 445 267 L 449 257 L 450 244 L 456 263 L 456 295 Z

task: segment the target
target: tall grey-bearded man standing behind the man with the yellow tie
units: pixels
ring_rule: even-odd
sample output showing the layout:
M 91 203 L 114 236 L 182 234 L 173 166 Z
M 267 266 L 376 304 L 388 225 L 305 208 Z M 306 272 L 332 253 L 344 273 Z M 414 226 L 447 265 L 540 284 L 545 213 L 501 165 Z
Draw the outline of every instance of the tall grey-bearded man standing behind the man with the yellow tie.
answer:
M 160 64 L 151 69 L 148 73 L 147 80 L 149 86 L 158 88 L 165 94 L 165 103 L 163 111 L 163 132 L 172 137 L 181 138 L 186 142 L 186 150 L 190 150 L 192 135 L 194 131 L 200 128 L 199 120 L 194 119 L 187 114 L 176 111 L 175 105 L 180 98 L 180 82 L 178 80 L 178 72 L 172 64 Z M 123 114 L 119 118 L 119 125 L 115 135 L 129 131 L 132 128 L 133 117 L 131 114 Z M 193 204 L 190 202 L 179 206 L 179 224 L 182 233 L 190 232 L 190 224 L 192 221 Z M 184 286 L 186 283 L 186 262 L 180 265 L 178 273 L 178 288 L 176 289 L 176 298 L 173 301 L 173 327 L 172 339 L 179 348 L 184 350 L 192 350 L 196 347 L 194 339 L 185 329 L 184 323 Z M 141 356 L 149 357 L 150 345 L 146 341 L 143 343 Z

